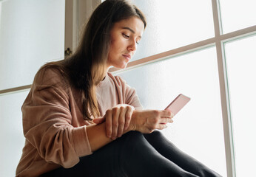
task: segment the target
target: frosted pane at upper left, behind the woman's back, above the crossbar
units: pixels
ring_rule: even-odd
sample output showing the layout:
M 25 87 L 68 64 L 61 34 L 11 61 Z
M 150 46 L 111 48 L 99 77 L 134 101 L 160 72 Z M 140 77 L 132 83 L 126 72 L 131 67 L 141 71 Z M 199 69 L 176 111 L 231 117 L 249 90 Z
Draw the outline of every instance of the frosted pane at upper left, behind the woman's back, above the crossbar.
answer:
M 43 63 L 64 58 L 65 1 L 0 4 L 0 89 L 29 85 Z

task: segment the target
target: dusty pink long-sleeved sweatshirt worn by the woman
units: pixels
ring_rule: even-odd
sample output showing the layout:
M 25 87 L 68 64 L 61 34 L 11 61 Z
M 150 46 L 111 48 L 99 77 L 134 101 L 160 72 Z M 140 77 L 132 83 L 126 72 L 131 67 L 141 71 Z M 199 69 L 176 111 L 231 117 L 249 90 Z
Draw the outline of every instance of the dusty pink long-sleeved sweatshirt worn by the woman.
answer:
M 25 145 L 16 176 L 40 176 L 58 167 L 73 167 L 92 153 L 87 125 L 81 114 L 81 95 L 56 69 L 41 69 L 22 105 Z M 108 73 L 97 86 L 101 116 L 117 104 L 141 103 L 127 83 Z

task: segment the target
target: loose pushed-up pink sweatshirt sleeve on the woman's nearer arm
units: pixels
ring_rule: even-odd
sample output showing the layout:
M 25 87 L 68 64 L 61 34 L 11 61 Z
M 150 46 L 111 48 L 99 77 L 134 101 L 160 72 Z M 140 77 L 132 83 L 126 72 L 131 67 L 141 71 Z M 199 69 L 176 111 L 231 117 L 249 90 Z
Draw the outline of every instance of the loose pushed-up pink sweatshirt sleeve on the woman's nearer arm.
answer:
M 92 153 L 86 126 L 72 125 L 70 87 L 56 69 L 41 69 L 22 105 L 24 136 L 46 162 L 73 167 Z

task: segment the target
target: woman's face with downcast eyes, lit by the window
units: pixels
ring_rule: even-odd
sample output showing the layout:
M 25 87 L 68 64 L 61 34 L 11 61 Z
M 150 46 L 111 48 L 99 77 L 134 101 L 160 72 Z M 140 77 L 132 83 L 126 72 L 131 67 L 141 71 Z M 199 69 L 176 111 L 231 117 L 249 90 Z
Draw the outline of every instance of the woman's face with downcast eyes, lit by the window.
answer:
M 110 31 L 111 44 L 107 67 L 124 69 L 135 54 L 143 32 L 144 23 L 136 16 L 116 22 Z

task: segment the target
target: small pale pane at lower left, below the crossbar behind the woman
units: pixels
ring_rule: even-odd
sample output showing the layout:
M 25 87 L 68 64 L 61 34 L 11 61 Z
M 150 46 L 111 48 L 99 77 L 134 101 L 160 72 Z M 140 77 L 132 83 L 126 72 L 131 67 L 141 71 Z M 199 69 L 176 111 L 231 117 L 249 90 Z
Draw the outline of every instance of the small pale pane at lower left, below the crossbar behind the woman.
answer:
M 21 105 L 28 91 L 0 95 L 0 176 L 15 176 L 24 146 Z

